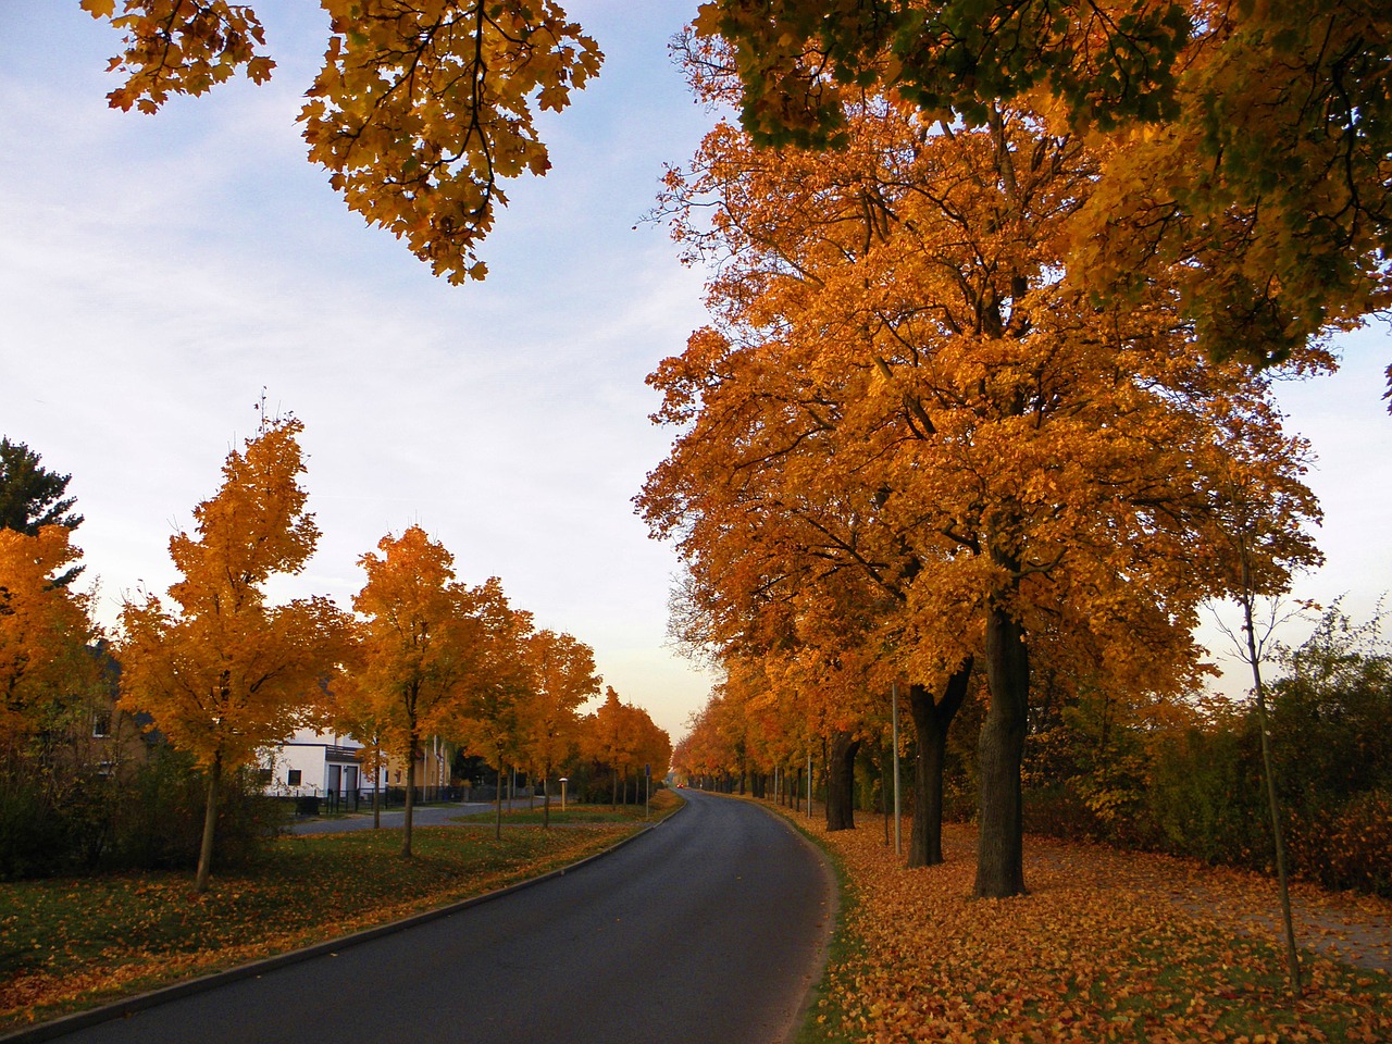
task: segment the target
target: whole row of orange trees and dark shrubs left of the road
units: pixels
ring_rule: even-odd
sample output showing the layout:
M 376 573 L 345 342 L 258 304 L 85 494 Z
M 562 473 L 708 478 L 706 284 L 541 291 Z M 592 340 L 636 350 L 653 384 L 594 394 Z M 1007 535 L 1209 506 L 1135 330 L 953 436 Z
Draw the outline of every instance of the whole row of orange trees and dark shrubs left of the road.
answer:
M 238 855 L 253 846 L 255 784 L 239 770 L 301 725 L 358 738 L 374 780 L 388 757 L 404 763 L 404 856 L 430 738 L 484 759 L 500 781 L 514 766 L 550 781 L 582 757 L 625 786 L 642 766 L 665 775 L 671 743 L 644 711 L 615 696 L 617 715 L 580 718 L 600 683 L 593 650 L 537 631 L 497 578 L 462 583 L 452 554 L 419 526 L 362 557 L 352 614 L 324 597 L 274 604 L 270 583 L 301 572 L 319 540 L 301 484 L 302 430 L 292 416 L 263 418 L 227 455 L 217 491 L 193 508 L 193 530 L 170 539 L 181 579 L 167 597 L 125 599 L 114 646 L 89 619 L 90 596 L 61 582 L 81 554 L 67 476 L 47 476 L 36 455 L 4 443 L 0 501 L 17 525 L 0 528 L 0 877 L 109 856 L 180 863 L 187 841 L 205 891 L 224 827 Z M 106 731 L 117 686 L 121 720 L 138 718 L 157 748 L 146 766 L 107 771 L 110 786 L 93 778 L 78 788 L 79 741 L 93 731 L 116 767 Z M 589 742 L 600 718 L 611 735 L 603 749 Z M 74 786 L 58 788 L 60 774 Z M 202 795 L 196 844 L 184 823 L 192 785 Z

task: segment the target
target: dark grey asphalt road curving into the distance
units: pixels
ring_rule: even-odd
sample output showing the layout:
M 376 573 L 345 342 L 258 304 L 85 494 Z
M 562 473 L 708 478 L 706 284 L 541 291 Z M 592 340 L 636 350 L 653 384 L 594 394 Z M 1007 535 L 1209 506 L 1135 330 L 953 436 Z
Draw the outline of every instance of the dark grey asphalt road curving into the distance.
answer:
M 834 885 L 743 802 L 689 805 L 532 888 L 63 1037 L 67 1044 L 774 1044 Z

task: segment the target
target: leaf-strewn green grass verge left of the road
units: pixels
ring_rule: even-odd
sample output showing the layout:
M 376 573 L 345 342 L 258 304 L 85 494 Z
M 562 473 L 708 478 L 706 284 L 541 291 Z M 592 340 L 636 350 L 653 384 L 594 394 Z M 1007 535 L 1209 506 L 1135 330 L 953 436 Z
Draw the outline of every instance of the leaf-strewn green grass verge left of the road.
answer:
M 675 796 L 672 800 L 679 803 Z M 656 813 L 654 813 L 656 818 Z M 516 821 L 516 820 L 509 820 Z M 494 891 L 567 866 L 642 827 L 416 827 L 288 837 L 255 866 L 0 885 L 0 1031 L 246 963 Z

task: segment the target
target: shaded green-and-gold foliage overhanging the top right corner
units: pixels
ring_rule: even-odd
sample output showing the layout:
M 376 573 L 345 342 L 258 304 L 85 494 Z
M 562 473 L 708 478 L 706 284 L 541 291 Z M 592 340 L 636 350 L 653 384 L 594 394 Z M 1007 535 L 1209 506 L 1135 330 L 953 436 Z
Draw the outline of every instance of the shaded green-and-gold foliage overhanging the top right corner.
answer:
M 1058 132 L 1105 136 L 1077 271 L 1130 299 L 1180 266 L 1217 356 L 1279 362 L 1392 292 L 1392 15 L 1375 4 L 710 0 L 696 26 L 725 43 L 760 143 L 844 145 L 867 89 L 967 127 L 1034 99 Z

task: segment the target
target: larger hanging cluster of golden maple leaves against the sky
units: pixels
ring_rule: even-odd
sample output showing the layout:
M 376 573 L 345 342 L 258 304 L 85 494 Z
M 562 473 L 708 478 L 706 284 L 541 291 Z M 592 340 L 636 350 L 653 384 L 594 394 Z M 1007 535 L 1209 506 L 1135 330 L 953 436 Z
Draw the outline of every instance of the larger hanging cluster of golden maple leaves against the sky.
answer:
M 551 0 L 324 8 L 334 36 L 301 113 L 310 159 L 437 276 L 483 278 L 498 182 L 550 168 L 533 110 L 564 109 L 599 71 L 597 46 Z

